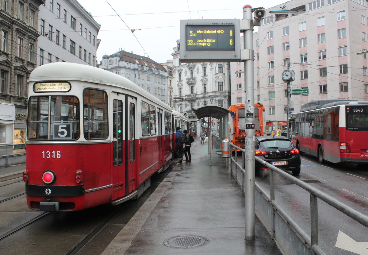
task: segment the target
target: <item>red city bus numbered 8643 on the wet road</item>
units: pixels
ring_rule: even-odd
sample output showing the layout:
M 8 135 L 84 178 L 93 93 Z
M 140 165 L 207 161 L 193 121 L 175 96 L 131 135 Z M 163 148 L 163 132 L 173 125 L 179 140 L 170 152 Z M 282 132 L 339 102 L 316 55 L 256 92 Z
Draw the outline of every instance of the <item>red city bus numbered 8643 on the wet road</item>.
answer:
M 294 146 L 332 163 L 368 163 L 368 102 L 322 99 L 292 115 Z

